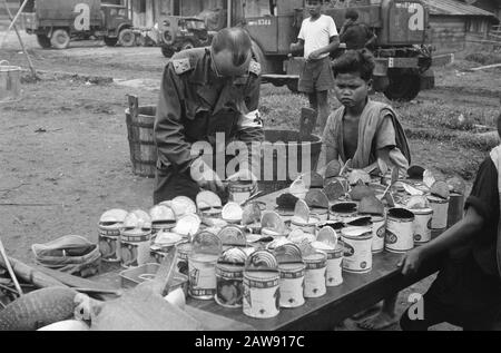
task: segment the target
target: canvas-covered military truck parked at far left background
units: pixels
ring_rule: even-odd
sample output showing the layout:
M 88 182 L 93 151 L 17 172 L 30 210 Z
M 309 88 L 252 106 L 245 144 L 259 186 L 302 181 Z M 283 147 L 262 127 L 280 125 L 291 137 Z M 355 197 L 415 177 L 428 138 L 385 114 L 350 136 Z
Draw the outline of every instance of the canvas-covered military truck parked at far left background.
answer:
M 107 46 L 136 43 L 128 6 L 100 0 L 30 0 L 23 12 L 26 30 L 42 48 L 68 48 L 71 40 L 102 38 Z

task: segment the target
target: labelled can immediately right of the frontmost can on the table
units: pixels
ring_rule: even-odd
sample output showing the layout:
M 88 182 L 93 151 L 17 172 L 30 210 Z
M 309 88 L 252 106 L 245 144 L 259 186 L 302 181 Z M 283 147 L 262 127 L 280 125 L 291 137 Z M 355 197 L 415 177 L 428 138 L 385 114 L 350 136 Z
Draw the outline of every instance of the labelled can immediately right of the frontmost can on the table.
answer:
M 298 307 L 304 304 L 304 275 L 306 265 L 303 263 L 279 264 L 279 290 L 282 307 Z

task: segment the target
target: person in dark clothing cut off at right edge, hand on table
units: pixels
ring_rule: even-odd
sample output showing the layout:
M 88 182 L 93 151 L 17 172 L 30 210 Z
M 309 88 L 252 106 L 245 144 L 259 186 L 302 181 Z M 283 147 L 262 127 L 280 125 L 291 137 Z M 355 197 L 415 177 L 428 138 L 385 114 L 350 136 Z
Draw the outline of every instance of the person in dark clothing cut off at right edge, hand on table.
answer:
M 400 263 L 402 274 L 412 275 L 429 258 L 445 258 L 422 298 L 422 316 L 413 320 L 407 310 L 400 321 L 402 330 L 424 331 L 448 322 L 466 331 L 501 331 L 500 168 L 498 146 L 480 165 L 464 218 Z

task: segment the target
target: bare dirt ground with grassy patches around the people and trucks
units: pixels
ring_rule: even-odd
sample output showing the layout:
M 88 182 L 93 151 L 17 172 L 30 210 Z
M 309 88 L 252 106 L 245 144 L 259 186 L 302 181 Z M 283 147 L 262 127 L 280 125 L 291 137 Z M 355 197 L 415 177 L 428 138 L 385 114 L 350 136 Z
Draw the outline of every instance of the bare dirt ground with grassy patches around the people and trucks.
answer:
M 158 48 L 107 48 L 98 42 L 81 42 L 63 51 L 41 50 L 33 37 L 23 38 L 37 69 L 45 73 L 40 81 L 22 85 L 20 101 L 0 104 L 0 219 L 9 254 L 30 263 L 35 243 L 67 234 L 97 241 L 96 225 L 105 210 L 151 206 L 153 180 L 131 173 L 126 95 L 137 95 L 141 106 L 155 105 L 167 59 Z M 7 49 L 1 49 L 0 59 L 27 68 L 13 36 Z M 405 116 L 405 127 L 413 127 L 419 119 L 414 112 L 435 106 L 445 105 L 451 110 L 461 106 L 485 111 L 485 116 L 499 109 L 499 71 L 463 72 L 462 65 L 438 69 L 438 88 L 396 107 Z M 50 73 L 56 71 L 80 76 Z M 375 99 L 384 98 L 376 95 Z M 336 105 L 333 99 L 333 107 Z M 262 106 L 268 128 L 294 129 L 306 99 L 265 85 Z M 439 127 L 435 133 L 441 131 Z M 430 143 L 412 137 L 411 148 L 414 164 L 445 174 L 485 157 L 485 151 L 440 139 Z M 424 293 L 430 281 L 401 293 L 399 313 L 407 305 L 409 293 Z M 347 329 L 354 329 L 353 323 Z

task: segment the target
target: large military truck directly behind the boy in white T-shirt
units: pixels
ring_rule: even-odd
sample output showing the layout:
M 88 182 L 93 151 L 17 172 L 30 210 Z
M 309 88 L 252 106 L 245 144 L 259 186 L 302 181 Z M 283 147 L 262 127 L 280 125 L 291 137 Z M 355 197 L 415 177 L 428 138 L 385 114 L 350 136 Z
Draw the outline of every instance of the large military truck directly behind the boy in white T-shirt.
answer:
M 374 29 L 376 68 L 374 89 L 389 99 L 412 100 L 421 89 L 434 85 L 432 57 L 428 46 L 429 11 L 420 0 L 324 1 L 324 13 L 340 29 L 347 8 Z M 297 88 L 301 58 L 288 58 L 289 45 L 297 41 L 304 18 L 304 0 L 233 0 L 232 24 L 244 24 L 262 63 L 263 78 L 276 86 Z

